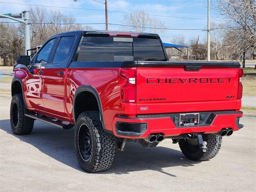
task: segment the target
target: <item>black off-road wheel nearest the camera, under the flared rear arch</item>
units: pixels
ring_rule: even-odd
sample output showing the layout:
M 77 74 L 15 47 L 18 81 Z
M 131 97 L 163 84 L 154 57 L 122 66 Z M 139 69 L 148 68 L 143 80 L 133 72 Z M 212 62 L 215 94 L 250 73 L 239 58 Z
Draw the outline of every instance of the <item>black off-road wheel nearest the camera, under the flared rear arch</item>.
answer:
M 116 138 L 103 131 L 98 111 L 81 113 L 76 121 L 76 157 L 86 172 L 110 168 L 116 152 Z

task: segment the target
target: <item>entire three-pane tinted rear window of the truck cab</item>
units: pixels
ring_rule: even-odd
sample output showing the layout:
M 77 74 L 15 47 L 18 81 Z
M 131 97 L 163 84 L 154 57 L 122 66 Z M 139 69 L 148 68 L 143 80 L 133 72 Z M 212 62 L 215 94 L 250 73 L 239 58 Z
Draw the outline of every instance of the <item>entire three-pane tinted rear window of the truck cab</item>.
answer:
M 84 37 L 78 61 L 166 61 L 159 39 Z

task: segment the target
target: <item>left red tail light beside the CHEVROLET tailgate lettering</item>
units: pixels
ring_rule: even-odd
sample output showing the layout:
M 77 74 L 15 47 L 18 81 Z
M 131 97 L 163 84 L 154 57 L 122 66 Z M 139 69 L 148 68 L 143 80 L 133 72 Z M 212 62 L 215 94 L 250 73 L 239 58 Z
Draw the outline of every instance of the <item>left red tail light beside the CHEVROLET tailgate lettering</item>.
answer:
M 122 68 L 121 75 L 126 78 L 126 85 L 122 88 L 122 102 L 136 102 L 136 68 Z

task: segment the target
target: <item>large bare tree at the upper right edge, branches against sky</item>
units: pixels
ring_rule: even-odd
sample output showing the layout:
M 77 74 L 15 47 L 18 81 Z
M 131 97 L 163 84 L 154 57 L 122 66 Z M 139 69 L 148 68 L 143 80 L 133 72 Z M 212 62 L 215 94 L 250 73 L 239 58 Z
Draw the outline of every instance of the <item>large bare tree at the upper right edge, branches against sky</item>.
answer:
M 256 1 L 255 0 L 216 0 L 214 8 L 226 19 L 226 31 L 229 46 L 236 50 L 237 59 L 256 48 Z

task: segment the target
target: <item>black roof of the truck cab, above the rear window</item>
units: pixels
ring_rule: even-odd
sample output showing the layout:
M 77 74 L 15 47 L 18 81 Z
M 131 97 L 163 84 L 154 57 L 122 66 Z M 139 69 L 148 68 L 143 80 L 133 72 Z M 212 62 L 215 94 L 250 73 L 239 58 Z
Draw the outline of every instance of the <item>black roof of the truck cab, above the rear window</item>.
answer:
M 63 32 L 59 34 L 71 34 L 71 33 L 80 33 L 82 36 L 110 36 L 110 34 L 138 34 L 140 37 L 145 37 L 145 38 L 156 38 L 160 39 L 158 34 L 154 33 L 144 33 L 144 32 L 131 32 L 131 31 L 107 31 L 107 30 L 94 30 L 94 31 L 69 31 L 69 32 Z M 55 34 L 59 35 L 59 34 Z

